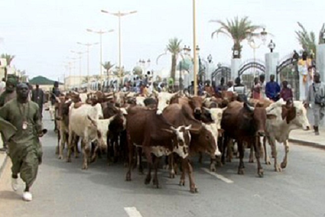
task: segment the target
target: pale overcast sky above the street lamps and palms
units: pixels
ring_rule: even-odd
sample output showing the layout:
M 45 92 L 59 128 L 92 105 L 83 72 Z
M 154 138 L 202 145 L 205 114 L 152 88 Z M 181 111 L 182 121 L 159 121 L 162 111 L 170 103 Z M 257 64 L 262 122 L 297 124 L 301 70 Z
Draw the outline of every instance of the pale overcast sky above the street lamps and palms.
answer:
M 219 26 L 210 20 L 249 16 L 253 24 L 264 25 L 280 58 L 293 50 L 300 50 L 294 31 L 301 22 L 318 35 L 325 23 L 325 0 L 196 0 L 196 35 L 199 55 L 212 55 L 215 63 L 230 64 L 232 40 L 226 35 L 211 38 Z M 0 53 L 13 54 L 12 65 L 26 70 L 30 78 L 42 75 L 53 80 L 69 74 L 65 64 L 77 57 L 71 50 L 86 52 L 81 43 L 99 42 L 95 30 L 114 29 L 103 34 L 103 61 L 118 64 L 118 18 L 101 13 L 137 13 L 122 17 L 122 65 L 127 70 L 139 59 L 150 58 L 148 69 L 170 68 L 171 57 L 164 55 L 169 38 L 177 37 L 193 48 L 192 0 L 0 0 Z M 242 59 L 252 59 L 253 49 L 243 42 Z M 90 49 L 90 75 L 99 74 L 100 49 Z M 264 59 L 266 46 L 256 51 L 256 58 Z M 79 75 L 79 60 L 72 65 L 71 75 Z M 82 75 L 87 75 L 87 54 L 82 57 Z M 62 81 L 62 80 L 61 80 Z

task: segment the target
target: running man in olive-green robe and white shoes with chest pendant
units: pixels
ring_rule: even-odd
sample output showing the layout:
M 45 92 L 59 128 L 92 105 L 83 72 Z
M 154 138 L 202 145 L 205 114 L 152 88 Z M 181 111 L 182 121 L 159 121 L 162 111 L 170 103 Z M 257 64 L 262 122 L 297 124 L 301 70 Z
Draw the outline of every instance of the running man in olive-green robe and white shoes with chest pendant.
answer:
M 9 157 L 12 162 L 11 186 L 13 190 L 18 190 L 18 174 L 20 174 L 26 183 L 23 193 L 25 201 L 32 200 L 30 188 L 36 179 L 38 165 L 42 162 L 38 137 L 47 132 L 41 128 L 37 104 L 29 101 L 28 95 L 29 87 L 25 83 L 20 83 L 17 85 L 17 98 L 0 109 L 0 117 L 17 129 L 14 136 L 8 140 Z

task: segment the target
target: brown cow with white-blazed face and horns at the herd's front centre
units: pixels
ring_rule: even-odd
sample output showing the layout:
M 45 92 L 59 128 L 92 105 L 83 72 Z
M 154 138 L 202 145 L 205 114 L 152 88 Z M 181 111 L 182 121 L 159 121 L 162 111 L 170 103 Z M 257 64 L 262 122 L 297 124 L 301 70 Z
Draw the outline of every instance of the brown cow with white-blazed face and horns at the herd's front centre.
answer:
M 127 138 L 129 143 L 129 170 L 126 180 L 131 180 L 131 167 L 133 164 L 133 143 L 142 146 L 148 162 L 148 174 L 145 184 L 151 181 L 151 168 L 154 154 L 155 176 L 153 183 L 159 188 L 157 177 L 158 159 L 163 155 L 176 152 L 181 158 L 187 158 L 190 143 L 189 129 L 191 126 L 174 128 L 162 115 L 157 115 L 155 109 L 133 107 L 128 109 Z M 190 171 L 189 171 L 190 172 Z M 191 186 L 191 192 L 195 192 L 195 185 Z

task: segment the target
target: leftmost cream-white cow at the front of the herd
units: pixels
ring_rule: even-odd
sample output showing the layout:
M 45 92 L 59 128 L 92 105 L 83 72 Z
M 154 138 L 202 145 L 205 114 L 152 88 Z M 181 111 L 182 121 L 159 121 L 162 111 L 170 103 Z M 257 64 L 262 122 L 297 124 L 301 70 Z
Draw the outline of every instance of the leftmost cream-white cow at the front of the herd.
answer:
M 100 136 L 98 125 L 93 120 L 98 120 L 103 117 L 100 104 L 95 106 L 82 105 L 79 108 L 74 108 L 74 103 L 69 108 L 69 138 L 68 138 L 68 159 L 71 162 L 72 138 L 80 136 L 82 139 L 83 153 L 83 169 L 88 168 L 88 157 L 90 155 L 89 143 L 97 141 L 99 145 L 104 144 L 103 137 Z M 108 130 L 108 126 L 107 126 Z M 106 141 L 105 141 L 106 142 Z M 92 156 L 92 161 L 95 160 L 96 152 Z

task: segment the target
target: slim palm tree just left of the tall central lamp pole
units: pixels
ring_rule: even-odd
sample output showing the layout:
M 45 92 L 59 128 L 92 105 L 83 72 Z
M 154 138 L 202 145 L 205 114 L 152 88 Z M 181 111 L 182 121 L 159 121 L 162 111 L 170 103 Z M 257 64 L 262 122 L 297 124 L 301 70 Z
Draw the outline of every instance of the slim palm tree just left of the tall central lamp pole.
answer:
M 170 71 L 170 77 L 175 81 L 175 74 L 176 74 L 176 63 L 177 63 L 177 56 L 181 53 L 182 48 L 181 48 L 181 43 L 182 40 L 179 40 L 178 38 L 171 38 L 169 39 L 169 43 L 165 49 L 165 53 L 169 52 L 171 54 L 171 71 Z M 161 54 L 157 58 L 157 63 L 159 57 L 161 57 Z

